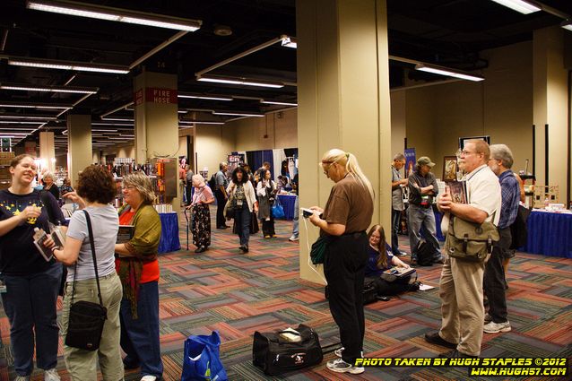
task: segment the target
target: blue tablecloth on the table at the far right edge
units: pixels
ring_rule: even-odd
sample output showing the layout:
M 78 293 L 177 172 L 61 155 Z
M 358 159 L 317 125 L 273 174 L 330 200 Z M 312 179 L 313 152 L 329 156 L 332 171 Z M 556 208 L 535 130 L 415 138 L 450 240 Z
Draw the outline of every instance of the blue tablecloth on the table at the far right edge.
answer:
M 533 211 L 526 225 L 525 252 L 572 258 L 572 213 Z

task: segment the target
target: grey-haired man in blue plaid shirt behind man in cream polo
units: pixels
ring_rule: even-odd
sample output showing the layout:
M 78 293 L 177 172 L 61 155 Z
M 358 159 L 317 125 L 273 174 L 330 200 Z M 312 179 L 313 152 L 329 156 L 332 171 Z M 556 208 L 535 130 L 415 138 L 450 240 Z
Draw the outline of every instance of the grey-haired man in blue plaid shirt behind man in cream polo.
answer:
M 505 293 L 504 262 L 514 255 L 510 250 L 512 236 L 510 225 L 516 220 L 520 200 L 520 186 L 511 170 L 513 153 L 505 144 L 490 146 L 489 167 L 498 176 L 501 189 L 500 219 L 498 220 L 498 235 L 489 261 L 485 265 L 484 292 L 489 299 L 489 313 L 485 315 L 485 333 L 509 332 L 510 323 L 507 319 L 507 295 Z

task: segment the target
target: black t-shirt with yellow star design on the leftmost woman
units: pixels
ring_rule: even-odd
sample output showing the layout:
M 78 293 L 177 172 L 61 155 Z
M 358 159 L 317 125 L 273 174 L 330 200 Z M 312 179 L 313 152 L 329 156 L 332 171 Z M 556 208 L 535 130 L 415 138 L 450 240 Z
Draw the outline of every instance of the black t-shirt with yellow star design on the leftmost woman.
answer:
M 56 220 L 65 222 L 64 215 L 56 199 L 50 193 L 47 193 L 47 195 Z M 29 221 L 24 222 L 0 237 L 1 273 L 8 275 L 41 273 L 48 270 L 48 267 L 55 263 L 54 259 L 46 262 L 39 254 L 38 248 L 34 246 L 34 228 L 49 231 L 48 212 L 41 201 L 38 191 L 33 191 L 28 195 L 14 195 L 8 189 L 0 191 L 0 220 L 7 220 L 30 205 L 41 208 L 41 214 L 38 219 L 29 219 Z

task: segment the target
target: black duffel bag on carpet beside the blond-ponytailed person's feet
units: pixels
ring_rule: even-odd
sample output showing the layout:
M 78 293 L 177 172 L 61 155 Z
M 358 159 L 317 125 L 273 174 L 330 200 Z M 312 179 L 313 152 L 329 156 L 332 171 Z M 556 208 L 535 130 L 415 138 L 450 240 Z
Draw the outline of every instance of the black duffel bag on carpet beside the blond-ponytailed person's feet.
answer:
M 322 362 L 324 355 L 316 331 L 307 325 L 299 325 L 300 341 L 290 342 L 276 333 L 255 332 L 252 345 L 252 362 L 269 376 L 307 368 Z

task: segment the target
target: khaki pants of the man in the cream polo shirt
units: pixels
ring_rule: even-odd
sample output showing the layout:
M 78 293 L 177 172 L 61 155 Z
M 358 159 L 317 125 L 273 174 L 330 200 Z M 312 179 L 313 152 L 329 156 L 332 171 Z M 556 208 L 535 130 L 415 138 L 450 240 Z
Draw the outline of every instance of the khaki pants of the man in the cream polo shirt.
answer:
M 467 262 L 444 256 L 439 282 L 443 317 L 439 335 L 447 342 L 458 342 L 457 351 L 479 356 L 485 314 L 482 305 L 485 262 Z

